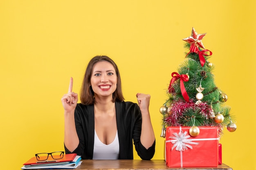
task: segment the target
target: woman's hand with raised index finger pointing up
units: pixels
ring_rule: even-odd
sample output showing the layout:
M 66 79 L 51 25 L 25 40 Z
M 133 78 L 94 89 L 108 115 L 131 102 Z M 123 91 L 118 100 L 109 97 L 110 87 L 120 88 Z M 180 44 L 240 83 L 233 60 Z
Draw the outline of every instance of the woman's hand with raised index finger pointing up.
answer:
M 61 98 L 65 113 L 74 113 L 74 110 L 76 109 L 78 94 L 72 92 L 72 88 L 73 88 L 73 78 L 71 77 L 68 93 L 64 94 L 64 96 Z

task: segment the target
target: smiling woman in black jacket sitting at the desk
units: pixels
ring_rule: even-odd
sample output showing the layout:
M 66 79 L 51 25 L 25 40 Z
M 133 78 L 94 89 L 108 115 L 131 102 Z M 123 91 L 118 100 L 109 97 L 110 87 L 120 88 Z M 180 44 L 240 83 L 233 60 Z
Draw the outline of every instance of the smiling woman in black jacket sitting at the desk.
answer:
M 138 93 L 138 105 L 124 102 L 117 65 L 107 56 L 88 63 L 78 94 L 63 96 L 66 153 L 82 159 L 133 159 L 132 140 L 141 159 L 152 159 L 155 135 L 150 121 L 149 94 Z

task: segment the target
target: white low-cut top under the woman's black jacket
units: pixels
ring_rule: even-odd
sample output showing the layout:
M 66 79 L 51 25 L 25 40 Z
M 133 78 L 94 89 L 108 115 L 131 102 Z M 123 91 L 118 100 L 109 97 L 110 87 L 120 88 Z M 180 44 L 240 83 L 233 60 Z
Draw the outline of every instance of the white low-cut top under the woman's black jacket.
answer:
M 119 157 L 119 139 L 118 134 L 111 144 L 103 144 L 94 129 L 94 148 L 92 159 L 118 159 Z

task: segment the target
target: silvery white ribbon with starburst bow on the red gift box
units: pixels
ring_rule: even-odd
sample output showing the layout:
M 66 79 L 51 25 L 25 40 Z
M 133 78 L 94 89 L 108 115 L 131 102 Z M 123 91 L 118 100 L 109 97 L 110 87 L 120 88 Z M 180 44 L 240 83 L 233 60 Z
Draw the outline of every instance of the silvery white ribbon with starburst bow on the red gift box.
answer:
M 187 150 L 188 148 L 193 149 L 193 147 L 189 144 L 195 144 L 198 145 L 198 142 L 192 142 L 192 141 L 202 141 L 202 140 L 219 140 L 219 138 L 203 138 L 203 139 L 189 139 L 189 137 L 191 137 L 190 135 L 187 135 L 187 132 L 185 131 L 185 133 L 183 133 L 182 131 L 182 126 L 180 126 L 180 132 L 179 135 L 177 133 L 173 133 L 173 135 L 175 137 L 170 136 L 169 138 L 173 139 L 173 140 L 166 140 L 167 142 L 171 142 L 173 145 L 173 147 L 171 148 L 171 150 L 173 150 L 175 147 L 175 150 L 180 151 L 180 167 L 183 167 L 183 161 L 182 161 L 182 152 L 184 150 Z

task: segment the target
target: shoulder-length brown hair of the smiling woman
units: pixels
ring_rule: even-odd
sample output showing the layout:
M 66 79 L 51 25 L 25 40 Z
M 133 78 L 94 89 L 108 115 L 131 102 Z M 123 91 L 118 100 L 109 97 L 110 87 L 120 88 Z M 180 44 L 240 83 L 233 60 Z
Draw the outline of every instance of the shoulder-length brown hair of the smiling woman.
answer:
M 121 77 L 120 77 L 120 73 L 117 68 L 117 65 L 108 56 L 101 55 L 101 56 L 93 57 L 87 65 L 87 68 L 85 70 L 85 74 L 83 77 L 83 84 L 82 84 L 81 92 L 80 92 L 81 103 L 84 105 L 91 105 L 94 103 L 94 92 L 93 92 L 92 86 L 91 86 L 91 77 L 92 77 L 93 66 L 96 63 L 98 63 L 99 61 L 108 61 L 109 63 L 111 63 L 113 65 L 113 67 L 115 68 L 115 72 L 117 74 L 117 89 L 115 90 L 115 92 L 112 95 L 113 96 L 112 102 L 124 101 L 124 96 L 123 96 L 122 88 L 121 88 Z

